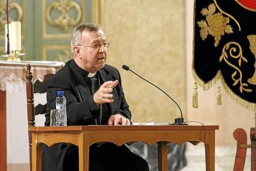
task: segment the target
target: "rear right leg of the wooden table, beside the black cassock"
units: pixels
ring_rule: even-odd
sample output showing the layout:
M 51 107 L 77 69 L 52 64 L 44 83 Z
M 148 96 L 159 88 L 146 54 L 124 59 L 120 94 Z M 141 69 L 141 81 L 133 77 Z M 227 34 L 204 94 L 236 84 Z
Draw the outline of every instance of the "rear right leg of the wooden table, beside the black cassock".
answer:
M 158 151 L 158 170 L 167 171 L 167 143 L 161 141 L 157 143 Z

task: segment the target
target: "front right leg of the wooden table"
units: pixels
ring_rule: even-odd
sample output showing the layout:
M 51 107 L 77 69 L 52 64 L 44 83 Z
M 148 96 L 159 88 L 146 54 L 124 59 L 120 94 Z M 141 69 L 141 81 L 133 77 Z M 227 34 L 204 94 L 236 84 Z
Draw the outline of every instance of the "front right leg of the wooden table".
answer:
M 212 133 L 212 132 L 211 132 Z M 215 135 L 205 133 L 208 141 L 205 141 L 205 166 L 207 171 L 213 171 L 215 167 Z

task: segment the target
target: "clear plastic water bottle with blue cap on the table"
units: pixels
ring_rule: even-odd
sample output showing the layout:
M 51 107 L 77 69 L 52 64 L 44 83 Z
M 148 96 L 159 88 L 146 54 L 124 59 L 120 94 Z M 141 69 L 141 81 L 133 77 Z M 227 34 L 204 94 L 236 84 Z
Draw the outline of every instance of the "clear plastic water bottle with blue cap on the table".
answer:
M 67 126 L 66 98 L 64 91 L 58 91 L 56 98 L 56 126 Z

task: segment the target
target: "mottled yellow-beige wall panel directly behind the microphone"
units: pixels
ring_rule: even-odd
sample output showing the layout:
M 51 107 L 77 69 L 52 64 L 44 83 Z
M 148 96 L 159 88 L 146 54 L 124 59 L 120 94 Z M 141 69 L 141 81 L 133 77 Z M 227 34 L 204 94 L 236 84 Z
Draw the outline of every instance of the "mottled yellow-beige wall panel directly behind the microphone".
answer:
M 186 113 L 184 1 L 107 0 L 104 8 L 107 63 L 120 70 L 133 122 L 173 122 L 180 117 L 175 104 L 122 64 L 161 87 Z

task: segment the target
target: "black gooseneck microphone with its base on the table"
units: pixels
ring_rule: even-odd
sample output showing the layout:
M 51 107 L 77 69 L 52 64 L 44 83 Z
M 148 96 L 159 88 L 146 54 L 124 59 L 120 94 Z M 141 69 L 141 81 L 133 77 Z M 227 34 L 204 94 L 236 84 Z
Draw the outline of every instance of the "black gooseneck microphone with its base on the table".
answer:
M 136 72 L 134 72 L 133 70 L 130 69 L 130 67 L 126 66 L 125 64 L 123 64 L 122 68 L 124 70 L 130 70 L 131 72 L 133 72 L 135 75 L 139 76 L 140 78 L 142 78 L 143 80 L 145 80 L 146 82 L 148 82 L 151 85 L 154 85 L 155 87 L 157 87 L 157 85 L 153 84 L 152 82 L 149 82 L 148 80 L 146 80 L 145 78 L 143 78 L 142 76 L 138 75 Z M 166 96 L 168 96 L 170 99 L 172 99 L 169 95 L 167 95 L 166 92 L 164 92 L 162 89 L 160 89 L 159 87 L 157 87 L 157 89 L 161 90 L 161 92 L 163 92 Z M 172 99 L 173 102 L 175 102 L 175 100 Z M 187 125 L 187 123 L 184 123 L 184 118 L 183 118 L 183 112 L 181 111 L 180 106 L 177 104 L 177 102 L 175 102 L 175 104 L 178 106 L 178 108 L 180 109 L 180 113 L 181 113 L 181 117 L 174 119 L 174 123 L 170 124 L 170 125 Z

